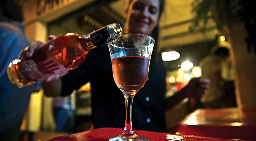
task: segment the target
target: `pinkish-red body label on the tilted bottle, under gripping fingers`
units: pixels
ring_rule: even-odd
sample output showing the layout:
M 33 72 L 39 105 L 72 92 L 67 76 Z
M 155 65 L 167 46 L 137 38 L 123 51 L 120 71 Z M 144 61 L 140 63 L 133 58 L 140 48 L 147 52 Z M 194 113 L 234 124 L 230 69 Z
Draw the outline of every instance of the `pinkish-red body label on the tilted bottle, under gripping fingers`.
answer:
M 45 81 L 54 75 L 64 76 L 70 68 L 61 65 L 55 56 L 51 56 L 37 64 L 27 60 L 22 67 L 22 75 L 29 81 Z

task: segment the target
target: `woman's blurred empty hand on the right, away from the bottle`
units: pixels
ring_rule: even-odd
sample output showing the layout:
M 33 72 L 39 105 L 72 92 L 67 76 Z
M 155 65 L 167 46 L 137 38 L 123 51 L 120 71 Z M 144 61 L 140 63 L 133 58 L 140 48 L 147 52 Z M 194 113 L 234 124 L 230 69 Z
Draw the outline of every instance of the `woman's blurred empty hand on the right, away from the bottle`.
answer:
M 210 84 L 209 79 L 192 78 L 188 85 L 186 86 L 187 97 L 192 97 L 195 99 L 201 99 L 202 96 L 206 93 Z

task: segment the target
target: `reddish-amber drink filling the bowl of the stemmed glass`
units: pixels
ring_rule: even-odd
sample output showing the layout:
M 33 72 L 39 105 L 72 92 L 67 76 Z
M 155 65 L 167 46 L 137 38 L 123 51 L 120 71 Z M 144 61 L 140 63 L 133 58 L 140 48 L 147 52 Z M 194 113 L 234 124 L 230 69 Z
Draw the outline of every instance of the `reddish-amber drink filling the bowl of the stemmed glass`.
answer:
M 120 89 L 136 93 L 144 86 L 148 78 L 149 58 L 124 56 L 111 61 L 114 80 Z

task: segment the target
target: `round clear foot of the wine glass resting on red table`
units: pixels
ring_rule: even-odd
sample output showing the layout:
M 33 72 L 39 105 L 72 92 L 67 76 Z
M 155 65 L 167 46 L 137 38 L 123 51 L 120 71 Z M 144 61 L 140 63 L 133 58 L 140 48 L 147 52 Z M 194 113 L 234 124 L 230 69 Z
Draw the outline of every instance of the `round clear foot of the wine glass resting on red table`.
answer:
M 131 135 L 121 134 L 116 137 L 109 138 L 109 141 L 149 141 L 145 137 L 137 136 L 135 133 Z

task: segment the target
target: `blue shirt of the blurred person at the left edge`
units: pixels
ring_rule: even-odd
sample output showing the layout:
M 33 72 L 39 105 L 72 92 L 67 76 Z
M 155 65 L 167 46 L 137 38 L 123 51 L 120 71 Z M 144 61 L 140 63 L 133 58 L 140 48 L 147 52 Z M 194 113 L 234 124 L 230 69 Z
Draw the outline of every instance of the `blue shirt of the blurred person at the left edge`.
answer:
M 10 23 L 8 23 L 10 24 Z M 19 129 L 34 85 L 18 88 L 8 80 L 6 69 L 27 47 L 27 38 L 15 30 L 0 26 L 0 134 Z

